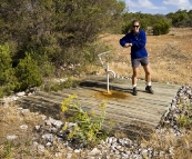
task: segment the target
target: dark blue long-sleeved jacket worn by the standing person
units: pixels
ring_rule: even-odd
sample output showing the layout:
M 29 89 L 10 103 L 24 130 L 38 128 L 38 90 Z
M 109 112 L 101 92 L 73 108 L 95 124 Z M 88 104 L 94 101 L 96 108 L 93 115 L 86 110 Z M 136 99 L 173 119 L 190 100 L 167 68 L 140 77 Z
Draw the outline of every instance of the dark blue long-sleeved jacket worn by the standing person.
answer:
M 143 30 L 137 34 L 133 34 L 133 31 L 125 34 L 122 39 L 120 39 L 120 44 L 124 47 L 125 43 L 132 43 L 131 47 L 131 59 L 139 59 L 148 57 L 148 52 L 145 49 L 146 36 Z

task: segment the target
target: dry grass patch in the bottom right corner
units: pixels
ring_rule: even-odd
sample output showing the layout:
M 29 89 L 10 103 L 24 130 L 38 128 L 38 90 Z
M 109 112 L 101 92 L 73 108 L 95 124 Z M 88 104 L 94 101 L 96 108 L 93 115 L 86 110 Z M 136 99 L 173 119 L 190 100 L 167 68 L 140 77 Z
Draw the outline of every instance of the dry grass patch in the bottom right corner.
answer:
M 155 151 L 171 151 L 172 155 L 164 153 L 161 158 L 191 159 L 192 157 L 192 133 L 182 137 L 174 136 L 172 130 L 166 130 L 162 135 L 153 133 L 150 140 L 142 140 L 141 147 L 151 147 Z

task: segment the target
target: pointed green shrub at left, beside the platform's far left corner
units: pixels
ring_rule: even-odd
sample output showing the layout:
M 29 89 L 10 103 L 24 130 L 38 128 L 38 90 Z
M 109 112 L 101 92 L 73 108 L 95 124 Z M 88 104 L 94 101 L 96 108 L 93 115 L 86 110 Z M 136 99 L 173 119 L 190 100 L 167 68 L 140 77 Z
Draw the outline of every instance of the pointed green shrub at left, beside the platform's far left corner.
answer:
M 16 68 L 16 77 L 18 78 L 18 86 L 16 90 L 26 90 L 30 87 L 38 87 L 42 83 L 40 69 L 37 61 L 27 52 L 27 57 L 21 59 Z

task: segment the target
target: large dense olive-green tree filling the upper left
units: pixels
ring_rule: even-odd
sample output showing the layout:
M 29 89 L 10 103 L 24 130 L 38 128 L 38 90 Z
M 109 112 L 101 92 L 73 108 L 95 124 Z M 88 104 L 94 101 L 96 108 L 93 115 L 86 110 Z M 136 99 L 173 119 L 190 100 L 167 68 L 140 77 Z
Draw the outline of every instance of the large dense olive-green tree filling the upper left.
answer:
M 17 44 L 16 66 L 31 50 L 46 54 L 57 68 L 79 63 L 82 49 L 107 28 L 114 30 L 124 8 L 117 0 L 1 0 L 0 43 Z

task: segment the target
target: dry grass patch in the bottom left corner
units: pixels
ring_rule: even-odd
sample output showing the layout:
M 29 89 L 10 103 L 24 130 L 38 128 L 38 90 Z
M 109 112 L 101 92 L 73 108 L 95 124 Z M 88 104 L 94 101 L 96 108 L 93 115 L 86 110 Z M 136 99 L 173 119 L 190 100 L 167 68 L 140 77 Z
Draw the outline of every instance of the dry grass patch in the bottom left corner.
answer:
M 3 108 L 0 106 L 0 159 L 53 159 L 54 151 L 40 152 L 33 146 L 38 135 L 33 131 L 34 126 L 42 123 L 39 113 L 18 111 L 18 106 Z M 27 125 L 28 129 L 22 130 L 20 126 Z M 17 136 L 14 140 L 8 140 L 8 136 Z

